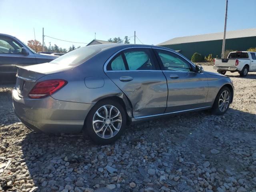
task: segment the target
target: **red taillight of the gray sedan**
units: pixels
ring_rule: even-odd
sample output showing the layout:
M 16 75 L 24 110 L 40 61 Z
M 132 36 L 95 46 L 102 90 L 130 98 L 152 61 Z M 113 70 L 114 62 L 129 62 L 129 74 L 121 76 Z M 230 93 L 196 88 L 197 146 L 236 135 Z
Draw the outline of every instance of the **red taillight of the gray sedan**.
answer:
M 29 92 L 28 97 L 31 99 L 47 97 L 65 86 L 67 83 L 67 81 L 61 79 L 38 82 Z

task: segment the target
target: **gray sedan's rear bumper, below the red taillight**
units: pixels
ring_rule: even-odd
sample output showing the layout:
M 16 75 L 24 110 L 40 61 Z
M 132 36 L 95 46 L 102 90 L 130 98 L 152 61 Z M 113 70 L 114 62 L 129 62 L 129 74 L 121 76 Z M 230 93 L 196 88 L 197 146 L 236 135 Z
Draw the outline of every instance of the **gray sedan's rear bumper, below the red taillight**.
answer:
M 16 116 L 35 132 L 78 133 L 93 104 L 66 102 L 52 97 L 43 99 L 20 98 L 12 92 Z

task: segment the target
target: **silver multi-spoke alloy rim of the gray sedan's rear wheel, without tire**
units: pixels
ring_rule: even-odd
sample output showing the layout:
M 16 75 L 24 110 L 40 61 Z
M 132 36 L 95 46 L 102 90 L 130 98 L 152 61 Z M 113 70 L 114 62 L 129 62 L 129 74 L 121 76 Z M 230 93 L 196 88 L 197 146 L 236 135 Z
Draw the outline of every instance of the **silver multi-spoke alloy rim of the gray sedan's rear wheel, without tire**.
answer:
M 99 137 L 104 139 L 112 138 L 122 126 L 122 115 L 115 106 L 104 105 L 95 112 L 92 126 Z

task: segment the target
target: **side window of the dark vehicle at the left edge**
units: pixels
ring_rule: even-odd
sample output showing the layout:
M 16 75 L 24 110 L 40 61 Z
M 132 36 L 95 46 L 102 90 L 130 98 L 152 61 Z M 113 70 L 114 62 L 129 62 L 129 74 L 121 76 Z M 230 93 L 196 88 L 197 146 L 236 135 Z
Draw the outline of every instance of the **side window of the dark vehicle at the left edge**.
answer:
M 21 47 L 11 38 L 0 36 L 0 53 L 21 54 Z

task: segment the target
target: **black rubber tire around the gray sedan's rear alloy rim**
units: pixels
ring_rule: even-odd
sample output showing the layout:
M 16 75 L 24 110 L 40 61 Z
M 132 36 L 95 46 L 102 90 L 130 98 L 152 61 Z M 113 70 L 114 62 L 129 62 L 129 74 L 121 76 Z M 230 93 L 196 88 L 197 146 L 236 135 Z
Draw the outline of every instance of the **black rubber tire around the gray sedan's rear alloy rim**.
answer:
M 120 115 L 121 115 L 122 122 L 121 122 L 120 129 L 111 138 L 102 138 L 101 136 L 96 134 L 96 132 L 94 131 L 94 125 L 93 125 L 94 116 L 96 115 L 96 112 L 98 110 L 100 110 L 100 108 L 102 108 L 103 106 L 107 106 L 107 107 L 114 106 L 117 110 L 119 110 Z M 104 124 L 104 126 L 108 126 L 108 125 L 106 125 L 107 121 L 106 120 L 104 120 L 104 121 L 105 121 L 104 123 L 103 122 L 99 122 L 98 124 L 101 123 L 100 126 L 102 126 L 102 127 L 103 127 L 103 124 Z M 110 124 L 112 124 L 112 122 Z M 113 127 L 111 125 L 110 125 L 110 127 L 112 128 L 112 131 L 113 131 L 114 130 Z M 109 130 L 110 127 L 106 128 L 106 132 L 111 133 L 110 130 Z M 116 141 L 123 134 L 125 128 L 126 128 L 126 112 L 125 112 L 123 106 L 119 102 L 116 102 L 114 100 L 105 99 L 105 100 L 101 100 L 98 103 L 96 103 L 93 106 L 93 108 L 90 110 L 90 112 L 88 113 L 88 115 L 86 117 L 86 122 L 84 123 L 83 134 L 84 134 L 85 137 L 89 136 L 91 138 L 91 140 L 93 142 L 95 142 L 96 144 L 103 144 L 104 145 L 104 144 L 111 144 L 114 141 Z M 102 134 L 102 136 L 103 136 L 103 134 Z

